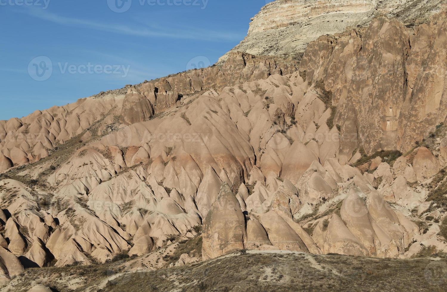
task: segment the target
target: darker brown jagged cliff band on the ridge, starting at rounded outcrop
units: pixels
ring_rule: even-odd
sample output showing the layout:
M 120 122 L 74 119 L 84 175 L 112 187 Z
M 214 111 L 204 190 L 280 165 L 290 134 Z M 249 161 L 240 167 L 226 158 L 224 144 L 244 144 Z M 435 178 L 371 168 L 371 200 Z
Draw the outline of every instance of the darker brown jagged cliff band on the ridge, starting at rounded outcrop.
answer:
M 144 122 L 154 111 L 162 113 L 181 105 L 181 98 L 207 89 L 221 90 L 246 81 L 266 79 L 274 74 L 290 74 L 298 63 L 234 52 L 227 62 L 208 68 L 191 70 L 129 89 L 123 102 L 121 120 L 126 124 Z

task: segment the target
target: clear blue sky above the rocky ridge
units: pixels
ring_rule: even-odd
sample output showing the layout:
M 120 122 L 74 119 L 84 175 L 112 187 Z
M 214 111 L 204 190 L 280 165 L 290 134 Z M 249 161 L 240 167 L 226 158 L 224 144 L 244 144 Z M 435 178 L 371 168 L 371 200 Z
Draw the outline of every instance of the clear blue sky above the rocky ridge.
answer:
M 215 63 L 266 2 L 0 0 L 0 120 Z

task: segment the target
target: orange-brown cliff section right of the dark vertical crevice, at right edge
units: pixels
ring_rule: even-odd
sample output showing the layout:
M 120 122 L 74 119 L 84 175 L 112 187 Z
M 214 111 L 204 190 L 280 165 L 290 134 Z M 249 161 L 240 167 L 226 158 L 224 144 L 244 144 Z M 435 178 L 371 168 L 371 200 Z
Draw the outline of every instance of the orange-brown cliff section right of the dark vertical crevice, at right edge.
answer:
M 408 89 L 399 116 L 401 149 L 422 140 L 447 117 L 446 70 L 447 19 L 443 11 L 428 25 L 419 26 L 410 38 L 412 50 L 406 63 Z

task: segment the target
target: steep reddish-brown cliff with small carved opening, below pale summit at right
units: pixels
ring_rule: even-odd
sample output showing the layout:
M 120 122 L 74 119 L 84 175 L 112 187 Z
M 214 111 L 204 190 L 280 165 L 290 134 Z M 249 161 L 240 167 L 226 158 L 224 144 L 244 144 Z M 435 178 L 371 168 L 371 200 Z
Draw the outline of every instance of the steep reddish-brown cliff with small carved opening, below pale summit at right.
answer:
M 445 26 L 443 13 L 414 34 L 379 18 L 309 44 L 300 70 L 332 92 L 346 158 L 360 147 L 406 152 L 444 122 Z

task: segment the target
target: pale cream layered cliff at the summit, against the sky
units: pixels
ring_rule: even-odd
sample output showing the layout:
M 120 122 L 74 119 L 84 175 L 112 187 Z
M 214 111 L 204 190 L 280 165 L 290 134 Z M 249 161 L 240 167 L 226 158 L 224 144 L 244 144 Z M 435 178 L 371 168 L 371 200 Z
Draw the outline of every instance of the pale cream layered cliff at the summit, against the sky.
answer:
M 320 35 L 369 25 L 380 15 L 396 17 L 405 25 L 420 24 L 443 3 L 445 0 L 276 0 L 253 17 L 247 36 L 232 51 L 297 59 Z M 219 62 L 227 58 L 228 54 L 223 55 Z

